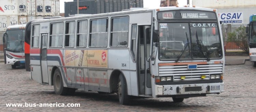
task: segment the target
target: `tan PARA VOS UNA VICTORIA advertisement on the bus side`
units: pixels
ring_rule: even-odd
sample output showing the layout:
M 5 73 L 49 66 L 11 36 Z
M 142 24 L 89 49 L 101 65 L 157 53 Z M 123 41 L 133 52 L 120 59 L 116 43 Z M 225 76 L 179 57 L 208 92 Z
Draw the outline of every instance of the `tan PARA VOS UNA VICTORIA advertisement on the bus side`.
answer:
M 108 68 L 107 50 L 65 50 L 66 66 Z

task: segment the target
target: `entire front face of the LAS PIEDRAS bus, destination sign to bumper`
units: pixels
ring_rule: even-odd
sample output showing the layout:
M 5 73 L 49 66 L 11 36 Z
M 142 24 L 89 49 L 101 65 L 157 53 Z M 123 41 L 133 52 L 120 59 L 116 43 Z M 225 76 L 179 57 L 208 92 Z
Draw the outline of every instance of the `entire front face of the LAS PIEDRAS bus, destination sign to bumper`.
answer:
M 152 70 L 155 95 L 223 92 L 224 52 L 216 12 L 159 11 L 157 21 L 151 61 L 151 68 L 158 68 Z

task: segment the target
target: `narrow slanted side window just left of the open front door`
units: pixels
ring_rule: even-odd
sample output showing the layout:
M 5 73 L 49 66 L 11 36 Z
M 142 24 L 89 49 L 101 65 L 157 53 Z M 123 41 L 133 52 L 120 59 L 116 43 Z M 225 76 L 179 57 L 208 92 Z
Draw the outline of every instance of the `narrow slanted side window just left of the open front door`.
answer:
M 136 54 L 136 36 L 137 36 L 137 25 L 131 26 L 131 53 L 133 56 L 133 60 L 135 60 Z

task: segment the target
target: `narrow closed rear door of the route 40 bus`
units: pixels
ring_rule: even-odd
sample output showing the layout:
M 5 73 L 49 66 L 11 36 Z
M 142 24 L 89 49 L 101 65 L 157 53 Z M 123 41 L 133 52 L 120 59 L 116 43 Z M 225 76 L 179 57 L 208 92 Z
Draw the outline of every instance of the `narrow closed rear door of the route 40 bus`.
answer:
M 40 48 L 40 63 L 41 63 L 41 74 L 42 82 L 48 83 L 48 70 L 47 70 L 47 37 L 48 34 L 41 34 L 41 48 Z

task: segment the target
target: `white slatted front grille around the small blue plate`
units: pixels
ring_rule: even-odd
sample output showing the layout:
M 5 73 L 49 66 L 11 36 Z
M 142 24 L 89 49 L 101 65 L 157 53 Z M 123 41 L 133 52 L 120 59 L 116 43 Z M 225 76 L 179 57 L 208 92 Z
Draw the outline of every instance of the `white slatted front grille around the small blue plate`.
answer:
M 198 64 L 197 69 L 188 70 L 188 65 L 159 66 L 159 76 L 173 76 L 173 81 L 209 80 L 210 74 L 221 74 L 223 64 Z M 201 78 L 205 75 L 205 78 Z M 181 79 L 185 76 L 185 79 Z

